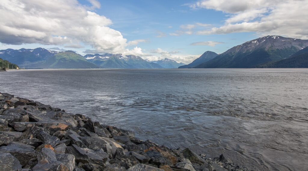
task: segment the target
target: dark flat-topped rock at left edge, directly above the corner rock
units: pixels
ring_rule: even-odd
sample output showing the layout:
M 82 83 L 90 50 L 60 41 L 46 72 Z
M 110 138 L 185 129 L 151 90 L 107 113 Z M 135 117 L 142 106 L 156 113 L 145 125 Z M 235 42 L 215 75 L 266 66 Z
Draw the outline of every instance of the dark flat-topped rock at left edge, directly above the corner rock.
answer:
M 22 166 L 26 165 L 30 159 L 36 158 L 33 146 L 17 142 L 11 142 L 7 146 L 1 146 L 0 152 L 12 154 Z

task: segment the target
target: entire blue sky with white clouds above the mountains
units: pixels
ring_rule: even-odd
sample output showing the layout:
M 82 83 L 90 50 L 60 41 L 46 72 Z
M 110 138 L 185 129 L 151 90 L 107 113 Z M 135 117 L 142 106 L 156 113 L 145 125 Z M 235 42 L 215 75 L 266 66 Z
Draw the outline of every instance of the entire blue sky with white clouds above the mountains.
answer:
M 190 63 L 267 35 L 308 39 L 308 0 L 1 0 L 0 49 Z

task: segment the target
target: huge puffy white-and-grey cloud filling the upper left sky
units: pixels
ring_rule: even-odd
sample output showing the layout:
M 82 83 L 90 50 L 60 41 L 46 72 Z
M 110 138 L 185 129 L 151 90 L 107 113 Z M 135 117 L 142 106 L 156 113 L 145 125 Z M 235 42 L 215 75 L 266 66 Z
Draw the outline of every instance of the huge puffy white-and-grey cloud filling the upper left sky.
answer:
M 122 53 L 128 46 L 122 34 L 109 26 L 112 21 L 81 5 L 77 0 L 1 0 L 0 42 L 3 44 L 72 45 L 82 42 L 95 51 Z M 74 48 L 78 48 L 75 46 Z

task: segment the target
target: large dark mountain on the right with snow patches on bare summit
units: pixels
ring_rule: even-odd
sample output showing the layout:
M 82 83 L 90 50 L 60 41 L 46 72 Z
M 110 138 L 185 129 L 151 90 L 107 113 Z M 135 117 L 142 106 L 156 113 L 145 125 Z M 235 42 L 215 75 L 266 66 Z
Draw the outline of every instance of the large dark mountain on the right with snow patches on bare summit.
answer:
M 279 61 L 308 46 L 308 40 L 265 36 L 235 46 L 195 68 L 250 68 Z

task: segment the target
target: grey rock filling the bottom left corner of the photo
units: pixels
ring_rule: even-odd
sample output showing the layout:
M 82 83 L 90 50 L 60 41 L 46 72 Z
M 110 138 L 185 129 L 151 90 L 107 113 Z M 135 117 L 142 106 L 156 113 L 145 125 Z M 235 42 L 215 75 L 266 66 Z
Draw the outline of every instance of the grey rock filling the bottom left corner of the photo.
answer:
M 15 171 L 22 170 L 17 158 L 10 153 L 0 153 L 0 170 Z

